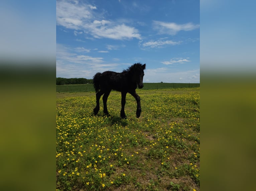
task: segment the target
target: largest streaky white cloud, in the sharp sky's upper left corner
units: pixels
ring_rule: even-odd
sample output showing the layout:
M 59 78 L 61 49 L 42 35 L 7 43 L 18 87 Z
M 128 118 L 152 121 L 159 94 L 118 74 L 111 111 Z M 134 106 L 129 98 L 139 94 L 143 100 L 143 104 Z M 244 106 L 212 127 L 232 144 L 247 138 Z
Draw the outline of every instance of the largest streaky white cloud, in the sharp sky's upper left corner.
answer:
M 102 20 L 103 15 L 96 13 L 97 7 L 74 0 L 56 1 L 56 24 L 74 30 L 85 30 L 94 38 L 116 40 L 141 39 L 134 27 Z M 77 35 L 77 33 L 75 33 Z

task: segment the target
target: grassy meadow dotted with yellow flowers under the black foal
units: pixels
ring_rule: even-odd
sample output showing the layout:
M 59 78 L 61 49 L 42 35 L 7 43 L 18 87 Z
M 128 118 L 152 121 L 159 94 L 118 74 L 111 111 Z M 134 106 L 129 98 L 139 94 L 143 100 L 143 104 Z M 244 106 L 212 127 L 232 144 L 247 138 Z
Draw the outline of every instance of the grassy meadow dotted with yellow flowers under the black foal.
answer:
M 200 88 L 56 93 L 56 190 L 200 190 Z

